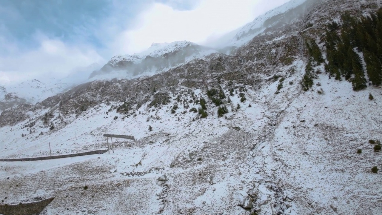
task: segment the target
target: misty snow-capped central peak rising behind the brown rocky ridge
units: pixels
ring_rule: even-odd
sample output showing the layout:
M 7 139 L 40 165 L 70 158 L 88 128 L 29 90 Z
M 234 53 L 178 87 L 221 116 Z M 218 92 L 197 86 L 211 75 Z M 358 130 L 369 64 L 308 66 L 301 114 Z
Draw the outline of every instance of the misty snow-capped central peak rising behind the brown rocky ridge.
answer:
M 112 57 L 104 67 L 90 75 L 90 80 L 132 78 L 139 77 L 143 73 L 154 74 L 217 52 L 217 50 L 189 41 L 153 43 L 144 52 Z

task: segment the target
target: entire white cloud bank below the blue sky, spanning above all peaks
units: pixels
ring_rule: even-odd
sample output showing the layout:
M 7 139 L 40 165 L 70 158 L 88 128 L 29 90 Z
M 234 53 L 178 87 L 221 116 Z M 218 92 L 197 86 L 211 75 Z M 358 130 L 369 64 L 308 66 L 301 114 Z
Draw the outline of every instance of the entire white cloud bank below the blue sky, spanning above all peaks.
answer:
M 167 4 L 142 3 L 142 10 L 131 20 L 124 12 L 128 7 L 126 2 L 115 0 L 112 16 L 99 23 L 99 29 L 84 31 L 100 39 L 102 48 L 83 44 L 83 38 L 68 44 L 61 38 L 36 33 L 32 38 L 37 46 L 26 50 L 0 26 L 0 46 L 3 47 L 0 50 L 0 84 L 65 77 L 74 68 L 94 62 L 102 64 L 116 54 L 140 52 L 153 42 L 187 40 L 200 44 L 243 26 L 287 0 L 190 0 L 188 6 L 191 5 L 192 10 L 174 9 L 181 8 L 184 1 L 165 2 Z

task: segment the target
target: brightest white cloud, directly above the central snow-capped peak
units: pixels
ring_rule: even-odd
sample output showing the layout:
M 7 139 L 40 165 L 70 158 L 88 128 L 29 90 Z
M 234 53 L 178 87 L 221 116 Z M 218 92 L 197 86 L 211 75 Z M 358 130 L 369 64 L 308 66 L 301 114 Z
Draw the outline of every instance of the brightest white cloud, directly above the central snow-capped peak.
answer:
M 240 28 L 287 1 L 201 0 L 189 11 L 154 3 L 137 16 L 134 28 L 119 33 L 111 46 L 115 54 L 133 54 L 147 49 L 152 42 L 187 40 L 200 44 Z

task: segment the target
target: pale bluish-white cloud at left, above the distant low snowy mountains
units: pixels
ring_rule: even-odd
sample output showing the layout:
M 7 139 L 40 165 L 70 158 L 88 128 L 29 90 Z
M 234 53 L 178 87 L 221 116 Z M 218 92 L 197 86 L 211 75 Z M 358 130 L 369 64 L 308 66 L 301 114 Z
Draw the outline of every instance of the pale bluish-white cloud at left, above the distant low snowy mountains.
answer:
M 103 58 L 89 46 L 70 46 L 58 39 L 39 36 L 39 46 L 27 52 L 13 52 L 0 58 L 0 84 L 12 84 L 33 78 L 63 78 L 78 67 L 86 67 Z

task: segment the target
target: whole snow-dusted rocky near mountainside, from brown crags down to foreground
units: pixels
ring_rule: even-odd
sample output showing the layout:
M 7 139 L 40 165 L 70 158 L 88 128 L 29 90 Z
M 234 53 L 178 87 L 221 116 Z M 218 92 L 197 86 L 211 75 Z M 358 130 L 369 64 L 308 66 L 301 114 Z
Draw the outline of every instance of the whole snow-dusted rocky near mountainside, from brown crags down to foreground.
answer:
M 312 66 L 309 90 L 301 85 L 306 42 L 324 51 L 331 20 L 382 1 L 290 4 L 230 55 L 3 111 L 3 158 L 49 155 L 48 143 L 52 155 L 105 149 L 107 133 L 136 139 L 114 140 L 114 154 L 3 163 L 4 204 L 55 197 L 42 214 L 382 213 L 381 172 L 371 172 L 382 157 L 369 142 L 382 139 L 381 88 L 353 91 L 324 64 Z

